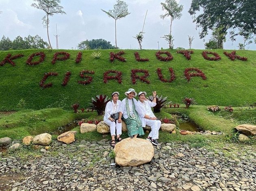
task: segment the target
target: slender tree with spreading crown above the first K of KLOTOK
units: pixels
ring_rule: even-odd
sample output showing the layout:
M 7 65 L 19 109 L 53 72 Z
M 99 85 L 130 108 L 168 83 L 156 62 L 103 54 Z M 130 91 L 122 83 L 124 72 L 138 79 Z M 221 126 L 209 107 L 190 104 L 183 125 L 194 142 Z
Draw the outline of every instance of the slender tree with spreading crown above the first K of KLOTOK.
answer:
M 128 4 L 126 2 L 117 0 L 117 4 L 114 4 L 113 10 L 104 11 L 101 9 L 104 13 L 108 15 L 108 17 L 111 17 L 115 19 L 115 47 L 117 48 L 117 20 L 126 17 L 130 13 L 128 12 Z

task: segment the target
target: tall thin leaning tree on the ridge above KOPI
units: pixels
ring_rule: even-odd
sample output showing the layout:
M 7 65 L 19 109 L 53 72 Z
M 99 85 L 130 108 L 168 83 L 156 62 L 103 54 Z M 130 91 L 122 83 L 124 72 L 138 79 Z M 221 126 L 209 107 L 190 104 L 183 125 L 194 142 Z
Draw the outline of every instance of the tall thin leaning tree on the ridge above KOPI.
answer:
M 46 15 L 43 16 L 43 27 L 47 28 L 47 36 L 50 48 L 52 49 L 52 45 L 49 38 L 49 16 L 53 16 L 54 14 L 66 14 L 62 9 L 63 6 L 60 6 L 60 0 L 34 0 L 36 3 L 31 4 L 31 6 L 43 10 Z

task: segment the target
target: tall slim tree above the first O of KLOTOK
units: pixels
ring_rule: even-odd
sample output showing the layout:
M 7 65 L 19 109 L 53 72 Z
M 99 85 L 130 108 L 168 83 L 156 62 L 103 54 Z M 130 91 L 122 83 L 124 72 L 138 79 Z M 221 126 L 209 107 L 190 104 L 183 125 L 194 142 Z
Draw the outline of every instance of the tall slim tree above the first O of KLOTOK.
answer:
M 163 11 L 166 11 L 164 15 L 160 15 L 161 19 L 165 19 L 165 17 L 171 17 L 170 18 L 170 34 L 165 35 L 163 38 L 168 41 L 169 43 L 169 48 L 173 49 L 173 41 L 174 37 L 171 35 L 171 25 L 172 21 L 174 19 L 180 19 L 182 16 L 182 10 L 183 10 L 183 5 L 179 5 L 176 0 L 165 0 L 165 3 L 161 3 Z

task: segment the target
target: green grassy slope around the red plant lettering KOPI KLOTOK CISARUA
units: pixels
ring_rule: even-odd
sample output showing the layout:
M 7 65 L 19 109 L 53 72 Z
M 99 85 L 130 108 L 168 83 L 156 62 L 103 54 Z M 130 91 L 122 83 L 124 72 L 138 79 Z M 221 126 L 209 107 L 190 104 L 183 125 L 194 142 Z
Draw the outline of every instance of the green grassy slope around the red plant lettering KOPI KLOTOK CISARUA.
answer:
M 30 66 L 26 64 L 28 57 L 39 51 L 46 54 L 44 62 Z M 69 59 L 56 61 L 52 64 L 52 58 L 57 51 L 70 53 Z M 223 54 L 223 50 L 213 50 L 221 56 L 220 61 L 208 61 L 202 57 L 203 50 L 194 50 L 191 60 L 187 60 L 176 50 L 168 50 L 174 59 L 169 62 L 159 61 L 156 58 L 157 50 L 138 51 L 142 58 L 149 58 L 149 62 L 137 62 L 134 56 L 135 50 L 124 50 L 123 55 L 127 62 L 117 59 L 110 62 L 112 50 L 100 50 L 99 59 L 91 57 L 93 51 L 82 51 L 82 60 L 76 63 L 77 50 L 21 50 L 0 51 L 0 62 L 11 53 L 24 54 L 24 57 L 13 59 L 15 66 L 10 63 L 0 66 L 0 110 L 16 110 L 24 100 L 24 108 L 41 109 L 46 107 L 62 107 L 71 109 L 71 105 L 78 102 L 81 107 L 88 107 L 91 97 L 98 94 L 111 95 L 113 91 L 119 91 L 120 100 L 125 97 L 124 92 L 128 88 L 134 88 L 137 92 L 157 91 L 158 95 L 168 96 L 174 103 L 181 103 L 182 98 L 195 98 L 201 105 L 243 106 L 256 102 L 256 51 L 236 51 L 237 55 L 247 57 L 248 60 L 231 61 Z M 118 52 L 119 50 L 113 50 Z M 231 51 L 228 51 L 231 52 Z M 33 61 L 39 57 L 34 57 Z M 162 69 L 165 79 L 170 78 L 169 69 L 173 68 L 176 79 L 171 83 L 163 83 L 158 79 L 156 69 Z M 184 79 L 185 68 L 199 68 L 207 79 L 193 77 L 190 82 Z M 150 84 L 137 80 L 135 85 L 131 81 L 132 69 L 146 69 L 150 76 L 147 78 Z M 82 70 L 93 70 L 95 74 L 88 74 L 93 81 L 88 85 L 80 85 L 78 81 Z M 107 70 L 122 72 L 122 84 L 116 80 L 103 83 L 103 74 Z M 70 81 L 65 87 L 61 85 L 65 73 L 71 72 Z M 58 76 L 50 76 L 46 83 L 52 82 L 52 87 L 42 89 L 39 82 L 45 72 L 58 72 Z M 141 75 L 141 73 L 138 73 Z M 86 74 L 87 75 L 87 74 Z

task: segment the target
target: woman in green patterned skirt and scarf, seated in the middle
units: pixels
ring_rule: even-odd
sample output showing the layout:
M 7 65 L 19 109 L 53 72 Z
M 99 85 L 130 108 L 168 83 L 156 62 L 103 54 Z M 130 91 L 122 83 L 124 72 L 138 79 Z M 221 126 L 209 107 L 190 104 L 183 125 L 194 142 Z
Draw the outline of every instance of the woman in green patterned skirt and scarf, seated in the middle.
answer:
M 137 100 L 134 97 L 137 96 L 137 93 L 134 89 L 130 88 L 124 93 L 127 97 L 122 100 L 120 107 L 118 122 L 121 122 L 121 117 L 123 117 L 124 122 L 126 123 L 128 136 L 131 138 L 137 138 L 137 136 L 144 135 L 144 131 L 141 124 L 141 119 L 137 111 L 135 110 L 135 105 Z

